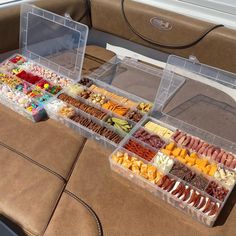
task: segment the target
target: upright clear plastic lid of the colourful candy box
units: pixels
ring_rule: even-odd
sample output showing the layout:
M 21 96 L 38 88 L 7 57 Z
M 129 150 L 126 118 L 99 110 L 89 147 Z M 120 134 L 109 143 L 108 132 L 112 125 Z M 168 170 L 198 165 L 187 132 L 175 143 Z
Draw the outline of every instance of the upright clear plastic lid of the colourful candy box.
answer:
M 29 4 L 21 5 L 22 54 L 71 79 L 81 75 L 88 27 Z

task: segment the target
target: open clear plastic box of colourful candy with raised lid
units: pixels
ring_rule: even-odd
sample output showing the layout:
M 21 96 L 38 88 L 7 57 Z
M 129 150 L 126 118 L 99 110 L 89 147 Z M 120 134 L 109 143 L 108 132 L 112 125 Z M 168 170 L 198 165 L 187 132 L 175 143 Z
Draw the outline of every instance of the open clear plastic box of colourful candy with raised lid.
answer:
M 20 54 L 2 62 L 0 73 L 13 74 L 54 96 L 80 79 L 87 35 L 86 25 L 33 5 L 21 4 Z M 19 61 L 17 56 L 21 57 Z M 40 121 L 46 114 L 45 100 L 50 100 L 45 97 L 37 101 L 42 106 L 35 114 L 18 107 L 4 94 L 1 103 L 32 121 Z

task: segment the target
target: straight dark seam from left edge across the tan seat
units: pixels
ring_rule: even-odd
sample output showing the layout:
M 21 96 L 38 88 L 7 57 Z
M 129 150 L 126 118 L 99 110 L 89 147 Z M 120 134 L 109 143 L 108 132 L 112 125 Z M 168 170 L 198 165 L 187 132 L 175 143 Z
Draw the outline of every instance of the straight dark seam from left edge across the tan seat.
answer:
M 54 176 L 56 176 L 57 178 L 59 178 L 60 180 L 62 180 L 64 183 L 66 183 L 66 179 L 65 179 L 62 175 L 60 175 L 60 174 L 58 174 L 57 172 L 51 170 L 50 168 L 48 168 L 48 167 L 46 167 L 46 166 L 44 166 L 44 165 L 38 163 L 37 161 L 33 160 L 33 159 L 30 158 L 29 156 L 25 155 L 24 153 L 22 153 L 22 152 L 16 150 L 15 148 L 13 148 L 13 147 L 11 147 L 11 146 L 9 146 L 9 145 L 7 145 L 7 144 L 1 142 L 1 141 L 0 141 L 0 146 L 2 146 L 3 148 L 8 149 L 9 151 L 11 151 L 11 152 L 17 154 L 19 157 L 21 157 L 21 158 L 23 158 L 23 159 L 25 159 L 25 160 L 31 162 L 32 164 L 34 164 L 34 165 L 40 167 L 41 169 L 47 171 L 48 173 L 53 174 Z

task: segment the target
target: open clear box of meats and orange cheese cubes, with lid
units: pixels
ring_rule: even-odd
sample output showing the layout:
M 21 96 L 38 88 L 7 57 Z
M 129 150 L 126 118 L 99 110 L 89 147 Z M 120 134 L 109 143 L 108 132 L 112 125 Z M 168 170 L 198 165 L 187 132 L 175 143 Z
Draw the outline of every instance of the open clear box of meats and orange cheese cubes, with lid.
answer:
M 196 106 L 199 97 L 206 95 L 207 99 L 200 98 L 199 110 L 205 102 L 220 98 L 208 107 L 232 112 L 236 107 L 231 93 L 235 95 L 235 78 L 232 73 L 196 60 L 170 56 L 160 85 L 166 90 L 159 90 L 157 95 L 159 107 L 143 118 L 110 155 L 111 169 L 199 222 L 213 226 L 235 188 L 235 136 L 227 137 L 223 126 L 214 130 L 211 125 L 205 130 L 205 123 L 196 121 L 195 116 L 192 120 L 189 114 L 179 119 L 179 114 Z M 181 86 L 173 93 L 171 84 Z M 164 103 L 161 98 L 165 98 Z M 206 120 L 209 114 L 205 114 Z M 235 127 L 231 121 L 225 125 Z M 186 197 L 188 189 L 191 194 Z

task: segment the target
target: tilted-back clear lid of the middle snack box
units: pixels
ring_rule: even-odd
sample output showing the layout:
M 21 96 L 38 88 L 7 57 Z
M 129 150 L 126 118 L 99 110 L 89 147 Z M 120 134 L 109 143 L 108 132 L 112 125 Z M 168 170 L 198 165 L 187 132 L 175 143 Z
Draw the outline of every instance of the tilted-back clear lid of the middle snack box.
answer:
M 165 102 L 157 94 L 167 94 L 169 86 L 175 91 L 181 85 L 174 84 L 177 86 L 174 88 L 173 84 L 170 85 L 171 81 L 166 78 L 164 78 L 166 81 L 162 82 L 162 72 L 162 68 L 135 59 L 124 58 L 116 61 L 113 59 L 94 71 L 89 77 L 114 86 L 117 90 L 125 92 L 126 97 L 130 99 L 138 97 L 151 102 L 153 110 L 157 110 Z M 164 85 L 167 88 L 164 88 Z

